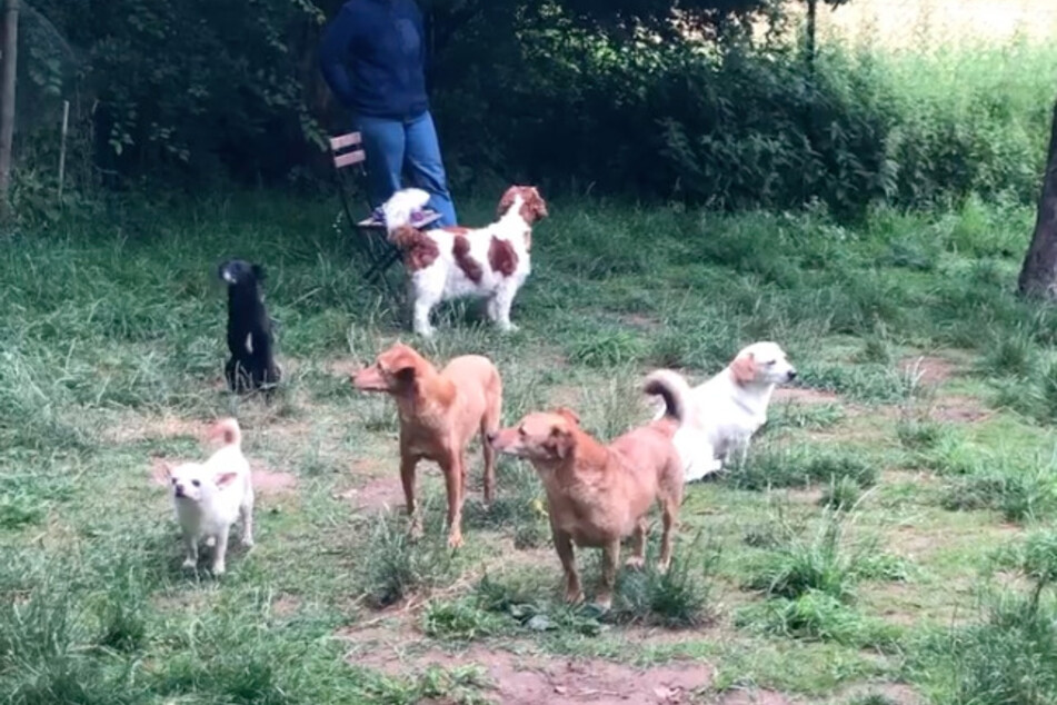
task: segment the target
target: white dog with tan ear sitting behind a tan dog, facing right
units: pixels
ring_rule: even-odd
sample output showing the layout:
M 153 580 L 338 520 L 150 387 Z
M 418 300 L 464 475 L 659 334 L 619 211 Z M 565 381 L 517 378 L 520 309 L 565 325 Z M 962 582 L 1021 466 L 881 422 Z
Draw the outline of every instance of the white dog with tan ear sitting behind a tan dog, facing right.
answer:
M 729 464 L 734 453 L 745 461 L 752 434 L 767 423 L 775 387 L 796 376 L 796 368 L 778 344 L 754 342 L 722 371 L 694 387 L 687 420 L 672 439 L 686 480 L 718 471 Z

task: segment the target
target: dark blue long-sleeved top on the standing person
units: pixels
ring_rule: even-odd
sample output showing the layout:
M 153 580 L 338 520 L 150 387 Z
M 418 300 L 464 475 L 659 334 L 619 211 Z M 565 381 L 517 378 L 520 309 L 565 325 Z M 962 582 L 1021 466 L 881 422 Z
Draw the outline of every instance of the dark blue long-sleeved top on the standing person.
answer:
M 413 0 L 348 0 L 323 33 L 319 66 L 356 115 L 416 118 L 429 109 L 423 38 Z

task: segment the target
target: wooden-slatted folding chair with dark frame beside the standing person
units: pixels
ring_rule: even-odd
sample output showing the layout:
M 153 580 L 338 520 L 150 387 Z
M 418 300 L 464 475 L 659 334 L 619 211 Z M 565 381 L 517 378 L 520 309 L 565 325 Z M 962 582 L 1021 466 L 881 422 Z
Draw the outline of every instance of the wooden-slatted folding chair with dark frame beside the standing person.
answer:
M 363 256 L 367 266 L 363 278 L 368 284 L 377 284 L 378 280 L 381 280 L 389 292 L 393 297 L 398 297 L 399 295 L 386 277 L 386 272 L 400 259 L 400 249 L 389 241 L 386 224 L 375 217 L 376 205 L 370 202 L 367 189 L 367 152 L 363 151 L 363 139 L 359 132 L 348 132 L 347 135 L 332 137 L 330 138 L 330 153 L 333 157 L 335 179 L 338 196 L 341 199 L 341 208 L 345 211 L 346 221 L 353 230 L 356 247 Z M 370 214 L 367 218 L 359 220 L 352 217 L 352 209 L 349 206 L 349 188 L 346 175 L 350 170 L 359 182 L 357 190 L 365 195 L 365 201 Z M 415 224 L 415 227 L 426 228 L 439 218 L 440 214 L 427 211 L 425 217 Z

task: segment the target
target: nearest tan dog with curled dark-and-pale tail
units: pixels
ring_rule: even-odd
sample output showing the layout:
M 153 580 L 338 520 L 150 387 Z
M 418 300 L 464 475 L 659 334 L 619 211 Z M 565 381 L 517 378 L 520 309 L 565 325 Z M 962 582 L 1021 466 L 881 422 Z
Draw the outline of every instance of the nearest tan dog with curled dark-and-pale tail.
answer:
M 668 370 L 650 375 L 646 391 L 664 397 L 666 418 L 636 428 L 609 446 L 584 433 L 579 418 L 568 409 L 529 414 L 516 427 L 489 437 L 499 453 L 529 460 L 544 483 L 567 600 L 584 598 L 572 545 L 597 547 L 604 550 L 602 584 L 595 602 L 609 608 L 620 539 L 632 537 L 628 565 L 641 567 L 647 514 L 655 500 L 664 523 L 658 568 L 667 570 L 671 530 L 682 503 L 682 464 L 671 443 L 686 409 L 686 384 L 678 381 Z

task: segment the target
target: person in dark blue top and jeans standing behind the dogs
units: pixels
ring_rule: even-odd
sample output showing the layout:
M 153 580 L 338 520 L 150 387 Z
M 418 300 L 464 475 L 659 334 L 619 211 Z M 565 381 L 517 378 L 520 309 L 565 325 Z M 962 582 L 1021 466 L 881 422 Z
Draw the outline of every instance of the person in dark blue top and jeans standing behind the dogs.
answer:
M 426 97 L 426 41 L 415 1 L 348 0 L 323 32 L 319 66 L 362 135 L 372 206 L 401 189 L 406 173 L 430 195 L 437 225 L 457 225 Z

